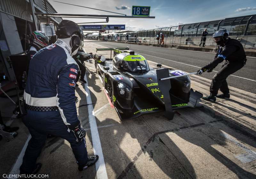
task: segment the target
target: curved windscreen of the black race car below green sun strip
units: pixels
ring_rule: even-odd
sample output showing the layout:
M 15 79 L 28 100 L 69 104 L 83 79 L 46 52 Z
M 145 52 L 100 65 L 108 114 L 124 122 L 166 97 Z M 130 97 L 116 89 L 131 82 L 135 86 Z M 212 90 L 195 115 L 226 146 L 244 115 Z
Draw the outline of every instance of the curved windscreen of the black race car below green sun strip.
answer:
M 123 61 L 123 69 L 129 72 L 146 72 L 149 70 L 146 60 Z

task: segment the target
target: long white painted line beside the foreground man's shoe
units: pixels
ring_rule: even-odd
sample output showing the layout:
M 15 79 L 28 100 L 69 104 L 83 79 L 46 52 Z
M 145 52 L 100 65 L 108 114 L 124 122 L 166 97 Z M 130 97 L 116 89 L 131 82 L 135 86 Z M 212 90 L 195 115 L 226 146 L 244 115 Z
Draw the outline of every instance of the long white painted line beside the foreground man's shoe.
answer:
M 87 81 L 86 75 L 84 75 L 85 81 Z M 99 160 L 96 162 L 96 171 L 97 171 L 97 179 L 107 179 L 107 170 L 105 166 L 105 161 L 103 158 L 101 143 L 100 143 L 100 136 L 98 132 L 98 127 L 93 111 L 93 105 L 92 105 L 92 98 L 90 95 L 90 90 L 88 87 L 88 81 L 87 83 L 84 83 L 85 88 L 85 94 L 86 94 L 86 101 L 87 104 L 89 104 L 88 107 L 88 114 L 89 114 L 89 122 L 90 122 L 90 128 L 91 128 L 91 134 L 92 134 L 92 145 L 93 145 L 93 153 L 99 155 Z

